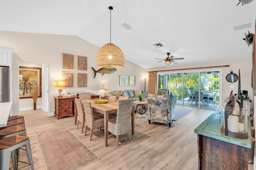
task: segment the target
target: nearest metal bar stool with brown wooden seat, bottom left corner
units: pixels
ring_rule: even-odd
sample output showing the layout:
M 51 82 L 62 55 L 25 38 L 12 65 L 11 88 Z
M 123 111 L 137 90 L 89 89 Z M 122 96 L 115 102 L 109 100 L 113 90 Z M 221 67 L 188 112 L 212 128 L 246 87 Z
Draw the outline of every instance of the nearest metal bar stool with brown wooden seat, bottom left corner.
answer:
M 18 160 L 17 150 L 22 146 L 26 147 L 26 152 L 28 154 L 28 161 L 30 162 L 30 168 L 34 170 L 29 137 L 20 136 L 20 135 L 14 135 L 14 136 L 10 136 L 0 140 L 0 170 L 9 169 L 11 153 L 12 153 L 12 160 L 13 160 L 12 162 L 17 162 L 16 161 Z M 15 170 L 18 169 L 18 164 L 13 168 Z

